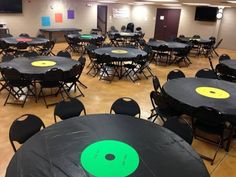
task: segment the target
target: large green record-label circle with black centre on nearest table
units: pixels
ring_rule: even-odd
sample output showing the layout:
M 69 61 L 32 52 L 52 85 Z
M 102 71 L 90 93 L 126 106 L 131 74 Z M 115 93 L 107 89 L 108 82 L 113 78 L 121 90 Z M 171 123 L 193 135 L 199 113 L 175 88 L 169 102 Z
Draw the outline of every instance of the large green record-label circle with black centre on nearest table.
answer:
M 82 167 L 96 177 L 124 177 L 139 166 L 139 155 L 130 145 L 102 140 L 87 146 L 81 154 Z

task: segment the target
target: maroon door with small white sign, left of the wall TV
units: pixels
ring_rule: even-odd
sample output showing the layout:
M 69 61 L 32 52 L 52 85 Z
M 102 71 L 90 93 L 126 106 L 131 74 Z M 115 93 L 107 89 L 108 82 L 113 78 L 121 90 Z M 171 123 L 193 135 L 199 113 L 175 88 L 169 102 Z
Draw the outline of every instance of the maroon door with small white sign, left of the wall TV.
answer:
M 180 9 L 157 9 L 154 38 L 172 40 L 177 37 Z

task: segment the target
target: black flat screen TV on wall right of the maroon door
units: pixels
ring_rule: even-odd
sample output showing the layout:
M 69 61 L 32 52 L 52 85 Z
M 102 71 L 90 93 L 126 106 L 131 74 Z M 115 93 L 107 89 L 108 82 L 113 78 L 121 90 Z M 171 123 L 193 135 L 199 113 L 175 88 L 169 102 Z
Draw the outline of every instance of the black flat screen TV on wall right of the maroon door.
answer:
M 217 7 L 198 6 L 196 7 L 195 20 L 216 21 Z

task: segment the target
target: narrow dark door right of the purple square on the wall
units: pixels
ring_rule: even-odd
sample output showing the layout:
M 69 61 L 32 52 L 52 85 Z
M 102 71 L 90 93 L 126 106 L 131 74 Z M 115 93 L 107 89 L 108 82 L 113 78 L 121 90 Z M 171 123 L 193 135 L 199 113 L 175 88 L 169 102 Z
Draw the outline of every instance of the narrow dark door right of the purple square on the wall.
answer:
M 97 6 L 97 28 L 102 30 L 102 34 L 107 33 L 107 6 Z

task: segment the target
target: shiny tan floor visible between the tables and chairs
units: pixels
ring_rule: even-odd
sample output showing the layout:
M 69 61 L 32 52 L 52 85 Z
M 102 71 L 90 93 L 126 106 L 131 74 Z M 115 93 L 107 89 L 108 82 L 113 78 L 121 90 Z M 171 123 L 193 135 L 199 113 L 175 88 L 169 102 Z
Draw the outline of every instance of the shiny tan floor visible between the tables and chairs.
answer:
M 63 43 L 56 44 L 54 52 L 56 53 L 57 51 L 65 48 L 66 45 Z M 228 53 L 232 58 L 236 58 L 235 51 L 219 49 L 218 52 L 220 54 Z M 73 58 L 77 59 L 78 56 L 74 55 Z M 207 58 L 191 57 L 191 60 L 193 64 L 189 67 L 181 68 L 186 76 L 194 76 L 198 69 L 205 67 L 209 68 Z M 216 64 L 218 59 L 214 57 L 213 62 Z M 161 83 L 164 84 L 167 73 L 178 67 L 175 65 L 157 66 L 152 64 L 151 68 L 153 73 L 160 78 Z M 132 83 L 130 80 L 125 78 L 122 80 L 115 79 L 110 84 L 106 81 L 99 81 L 98 77 L 86 75 L 87 70 L 88 68 L 85 68 L 83 71 L 81 81 L 88 86 L 88 89 L 82 89 L 85 97 L 80 98 L 86 107 L 87 114 L 108 113 L 114 100 L 119 97 L 128 96 L 138 102 L 142 110 L 142 117 L 144 119 L 150 115 L 151 102 L 149 93 L 153 89 L 151 78 L 148 80 L 142 78 L 136 83 Z M 8 140 L 8 131 L 12 121 L 22 114 L 32 113 L 41 117 L 46 126 L 54 123 L 54 107 L 46 109 L 42 100 L 35 103 L 33 99 L 29 98 L 25 104 L 25 107 L 21 108 L 15 105 L 3 106 L 5 98 L 6 92 L 3 91 L 0 93 L 0 177 L 5 176 L 7 165 L 14 154 Z M 194 140 L 192 146 L 197 152 L 202 154 L 213 155 L 215 152 L 215 146 L 211 146 L 197 140 Z M 234 140 L 232 142 L 229 153 L 220 150 L 213 166 L 210 165 L 209 162 L 205 162 L 205 164 L 212 177 L 236 177 L 236 141 Z

